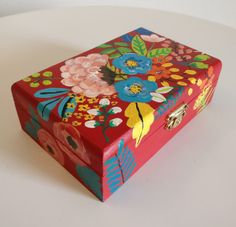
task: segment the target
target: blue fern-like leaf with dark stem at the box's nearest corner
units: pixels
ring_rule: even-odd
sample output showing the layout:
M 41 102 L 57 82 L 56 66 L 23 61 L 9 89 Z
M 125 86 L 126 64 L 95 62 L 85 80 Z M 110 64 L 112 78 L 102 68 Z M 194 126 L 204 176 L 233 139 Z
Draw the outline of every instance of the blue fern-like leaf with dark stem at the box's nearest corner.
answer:
M 105 166 L 107 166 L 107 184 L 110 192 L 113 193 L 129 179 L 136 167 L 133 152 L 128 147 L 125 147 L 123 139 L 119 142 L 117 154 L 110 157 L 105 162 Z

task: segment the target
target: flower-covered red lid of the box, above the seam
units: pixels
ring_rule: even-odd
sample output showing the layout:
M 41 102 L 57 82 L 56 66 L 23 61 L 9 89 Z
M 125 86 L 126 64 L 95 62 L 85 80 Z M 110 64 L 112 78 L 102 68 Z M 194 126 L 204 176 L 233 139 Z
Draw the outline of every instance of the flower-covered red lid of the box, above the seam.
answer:
M 197 96 L 220 67 L 210 55 L 138 28 L 12 89 L 16 105 L 37 110 L 42 127 L 102 175 L 121 137 L 138 147 L 151 127 L 164 124 L 168 110 Z

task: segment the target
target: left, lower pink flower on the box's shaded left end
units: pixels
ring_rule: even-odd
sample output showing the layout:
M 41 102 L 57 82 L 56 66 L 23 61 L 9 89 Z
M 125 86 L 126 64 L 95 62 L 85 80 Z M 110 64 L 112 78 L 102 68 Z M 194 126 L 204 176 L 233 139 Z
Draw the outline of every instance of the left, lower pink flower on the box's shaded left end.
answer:
M 65 160 L 63 153 L 53 136 L 41 128 L 38 131 L 38 138 L 40 145 L 47 151 L 47 153 L 56 159 L 61 165 L 64 165 Z

